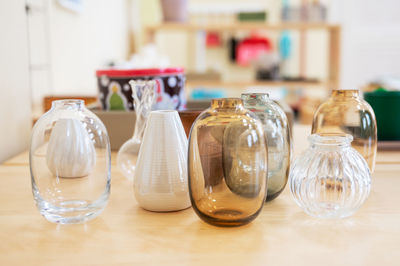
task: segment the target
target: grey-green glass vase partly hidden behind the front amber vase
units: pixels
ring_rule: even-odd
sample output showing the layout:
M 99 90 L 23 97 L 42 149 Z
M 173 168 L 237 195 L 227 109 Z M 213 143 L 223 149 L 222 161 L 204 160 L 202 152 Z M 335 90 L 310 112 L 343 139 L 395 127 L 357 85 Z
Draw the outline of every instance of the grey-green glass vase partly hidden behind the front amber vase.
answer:
M 267 201 L 273 200 L 286 186 L 291 154 L 289 122 L 282 108 L 268 93 L 242 94 L 244 107 L 261 120 L 268 144 Z

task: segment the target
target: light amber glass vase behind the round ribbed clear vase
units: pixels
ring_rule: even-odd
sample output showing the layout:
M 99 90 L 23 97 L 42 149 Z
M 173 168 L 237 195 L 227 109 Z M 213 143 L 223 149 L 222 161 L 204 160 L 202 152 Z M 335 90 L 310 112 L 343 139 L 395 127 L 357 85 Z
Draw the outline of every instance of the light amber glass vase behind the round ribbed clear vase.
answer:
M 350 134 L 351 146 L 375 168 L 377 129 L 374 110 L 360 98 L 358 90 L 333 90 L 332 96 L 314 114 L 312 133 Z

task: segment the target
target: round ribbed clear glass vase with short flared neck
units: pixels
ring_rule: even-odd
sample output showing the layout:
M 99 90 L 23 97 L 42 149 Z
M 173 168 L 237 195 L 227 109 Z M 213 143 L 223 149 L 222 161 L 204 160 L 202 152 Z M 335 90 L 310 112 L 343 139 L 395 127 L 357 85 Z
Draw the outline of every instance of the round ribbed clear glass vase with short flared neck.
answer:
M 289 186 L 296 203 L 315 217 L 352 215 L 367 199 L 371 175 L 365 159 L 351 147 L 351 135 L 319 135 L 290 167 Z

